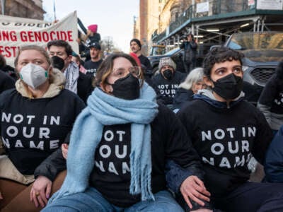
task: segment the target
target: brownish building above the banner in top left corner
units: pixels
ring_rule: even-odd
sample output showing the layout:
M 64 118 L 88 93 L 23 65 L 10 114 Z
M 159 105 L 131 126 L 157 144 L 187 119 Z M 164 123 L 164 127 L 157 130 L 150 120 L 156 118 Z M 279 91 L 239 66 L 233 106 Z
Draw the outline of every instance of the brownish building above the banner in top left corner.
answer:
M 2 15 L 43 20 L 43 14 L 45 11 L 42 9 L 42 0 L 1 1 L 4 3 L 4 10 L 2 8 L 2 4 L 0 5 Z

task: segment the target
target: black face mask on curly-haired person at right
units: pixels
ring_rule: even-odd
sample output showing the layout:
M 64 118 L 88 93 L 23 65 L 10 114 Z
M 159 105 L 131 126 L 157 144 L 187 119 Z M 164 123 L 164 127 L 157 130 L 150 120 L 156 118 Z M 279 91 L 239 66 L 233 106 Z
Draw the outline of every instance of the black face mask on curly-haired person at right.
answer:
M 224 98 L 225 100 L 233 100 L 240 95 L 243 90 L 243 78 L 230 73 L 223 78 L 219 78 L 214 82 L 214 88 L 212 90 Z

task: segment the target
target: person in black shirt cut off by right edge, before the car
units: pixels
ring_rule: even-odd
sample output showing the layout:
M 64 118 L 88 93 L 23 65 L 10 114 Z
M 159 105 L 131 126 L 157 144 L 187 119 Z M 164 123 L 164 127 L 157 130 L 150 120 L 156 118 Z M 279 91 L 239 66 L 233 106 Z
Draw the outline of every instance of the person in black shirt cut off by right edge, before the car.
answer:
M 258 100 L 258 109 L 265 115 L 271 129 L 276 133 L 283 124 L 283 61 L 275 74 L 267 81 Z

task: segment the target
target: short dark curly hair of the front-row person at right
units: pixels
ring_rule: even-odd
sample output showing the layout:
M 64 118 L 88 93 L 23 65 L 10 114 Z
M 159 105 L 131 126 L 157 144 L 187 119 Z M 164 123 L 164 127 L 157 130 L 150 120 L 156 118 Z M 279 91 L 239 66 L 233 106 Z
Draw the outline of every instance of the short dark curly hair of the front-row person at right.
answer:
M 228 47 L 215 47 L 211 49 L 204 57 L 204 61 L 202 63 L 202 67 L 204 69 L 204 76 L 210 76 L 212 67 L 216 63 L 238 60 L 242 65 L 243 57 L 245 56 L 241 52 L 237 52 L 236 50 L 230 49 Z

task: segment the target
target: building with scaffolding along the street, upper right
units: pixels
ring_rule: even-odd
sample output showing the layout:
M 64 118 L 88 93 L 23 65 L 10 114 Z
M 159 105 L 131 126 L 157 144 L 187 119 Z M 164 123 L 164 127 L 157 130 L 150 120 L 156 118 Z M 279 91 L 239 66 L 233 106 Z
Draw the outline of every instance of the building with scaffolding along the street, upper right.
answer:
M 177 47 L 187 33 L 195 35 L 199 44 L 221 45 L 236 32 L 283 30 L 282 1 L 276 1 L 276 4 L 266 2 L 140 0 L 142 21 L 139 35 L 147 49 L 156 44 L 166 45 L 168 50 Z

